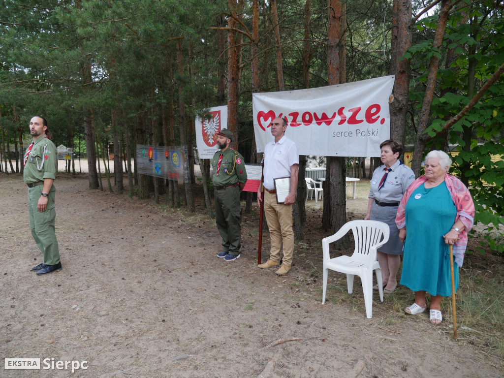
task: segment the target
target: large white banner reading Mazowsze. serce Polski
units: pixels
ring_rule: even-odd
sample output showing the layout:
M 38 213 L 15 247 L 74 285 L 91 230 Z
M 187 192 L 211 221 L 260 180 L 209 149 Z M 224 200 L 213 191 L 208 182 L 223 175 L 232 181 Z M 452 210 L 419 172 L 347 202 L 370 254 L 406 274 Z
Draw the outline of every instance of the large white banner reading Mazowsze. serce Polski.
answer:
M 285 135 L 300 155 L 380 156 L 390 138 L 394 76 L 297 91 L 254 93 L 257 151 L 274 138 L 270 123 L 287 118 Z

